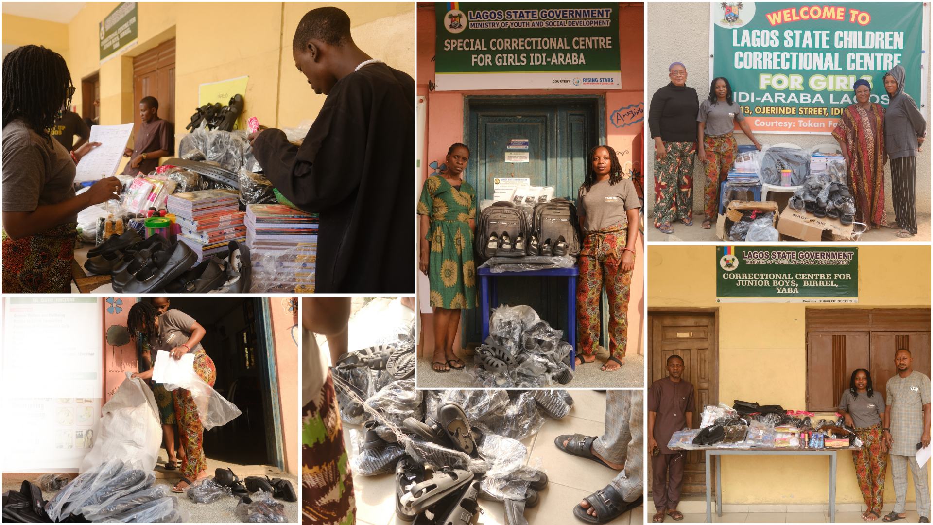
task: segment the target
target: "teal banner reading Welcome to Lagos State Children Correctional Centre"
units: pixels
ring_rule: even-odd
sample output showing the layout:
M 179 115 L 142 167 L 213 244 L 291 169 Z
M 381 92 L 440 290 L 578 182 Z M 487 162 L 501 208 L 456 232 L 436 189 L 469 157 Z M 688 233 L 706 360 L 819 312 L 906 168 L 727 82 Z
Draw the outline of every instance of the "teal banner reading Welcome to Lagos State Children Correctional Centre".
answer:
M 859 78 L 870 81 L 871 102 L 886 107 L 882 77 L 897 64 L 926 114 L 928 15 L 921 2 L 713 2 L 710 78 L 729 79 L 759 133 L 831 133 Z

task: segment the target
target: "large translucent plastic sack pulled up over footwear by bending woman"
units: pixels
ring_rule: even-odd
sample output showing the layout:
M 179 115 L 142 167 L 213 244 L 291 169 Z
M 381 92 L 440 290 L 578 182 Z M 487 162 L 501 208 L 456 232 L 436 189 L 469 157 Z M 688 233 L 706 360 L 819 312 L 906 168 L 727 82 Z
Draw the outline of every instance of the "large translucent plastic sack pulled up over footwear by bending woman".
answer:
M 116 393 L 101 408 L 100 430 L 94 447 L 81 461 L 80 472 L 94 469 L 108 458 L 151 471 L 159 459 L 162 430 L 159 404 L 139 377 L 126 372 Z

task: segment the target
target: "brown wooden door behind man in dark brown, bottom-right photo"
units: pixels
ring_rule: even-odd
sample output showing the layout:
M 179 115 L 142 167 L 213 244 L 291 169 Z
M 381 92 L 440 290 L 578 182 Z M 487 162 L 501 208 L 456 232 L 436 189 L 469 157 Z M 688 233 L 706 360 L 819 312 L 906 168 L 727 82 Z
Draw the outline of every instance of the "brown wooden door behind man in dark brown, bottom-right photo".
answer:
M 649 313 L 648 327 L 648 382 L 667 376 L 667 358 L 674 354 L 683 358 L 682 377 L 693 385 L 693 420 L 690 426 L 696 428 L 700 423 L 703 406 L 719 403 L 716 318 L 713 315 Z M 706 463 L 703 452 L 693 450 L 684 454 L 687 461 L 684 464 L 682 494 L 705 495 Z M 647 479 L 651 479 L 650 472 Z

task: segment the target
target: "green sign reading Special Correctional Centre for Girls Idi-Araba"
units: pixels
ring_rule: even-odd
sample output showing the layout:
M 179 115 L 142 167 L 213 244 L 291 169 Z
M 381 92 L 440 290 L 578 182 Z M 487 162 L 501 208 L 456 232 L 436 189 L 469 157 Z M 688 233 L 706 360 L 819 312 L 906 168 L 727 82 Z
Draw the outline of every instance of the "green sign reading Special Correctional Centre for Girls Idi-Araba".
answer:
M 620 89 L 619 4 L 437 2 L 435 89 Z

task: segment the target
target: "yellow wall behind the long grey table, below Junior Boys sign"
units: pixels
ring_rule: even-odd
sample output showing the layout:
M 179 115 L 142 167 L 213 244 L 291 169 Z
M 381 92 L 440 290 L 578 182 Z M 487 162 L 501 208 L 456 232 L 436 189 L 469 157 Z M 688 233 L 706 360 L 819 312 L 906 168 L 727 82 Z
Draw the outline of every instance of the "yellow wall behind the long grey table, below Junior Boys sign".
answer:
M 715 261 L 715 246 L 652 246 L 648 249 L 648 308 L 718 306 L 719 400 L 731 404 L 732 400 L 741 399 L 803 410 L 805 309 L 834 306 L 717 304 Z M 929 307 L 930 248 L 859 247 L 858 296 L 858 305 L 842 307 Z M 722 459 L 725 504 L 825 504 L 828 484 L 826 457 Z M 852 453 L 840 452 L 836 502 L 862 501 Z M 884 501 L 895 501 L 890 468 Z M 914 501 L 912 480 L 907 501 Z

